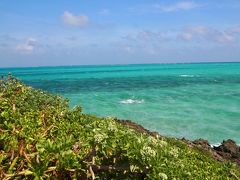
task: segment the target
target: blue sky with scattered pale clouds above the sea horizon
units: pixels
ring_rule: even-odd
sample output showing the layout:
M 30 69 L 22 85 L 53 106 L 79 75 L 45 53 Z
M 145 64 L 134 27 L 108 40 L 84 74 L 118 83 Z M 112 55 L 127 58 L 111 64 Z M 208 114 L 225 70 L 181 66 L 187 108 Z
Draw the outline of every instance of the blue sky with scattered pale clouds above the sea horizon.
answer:
M 239 0 L 0 1 L 0 67 L 230 61 Z

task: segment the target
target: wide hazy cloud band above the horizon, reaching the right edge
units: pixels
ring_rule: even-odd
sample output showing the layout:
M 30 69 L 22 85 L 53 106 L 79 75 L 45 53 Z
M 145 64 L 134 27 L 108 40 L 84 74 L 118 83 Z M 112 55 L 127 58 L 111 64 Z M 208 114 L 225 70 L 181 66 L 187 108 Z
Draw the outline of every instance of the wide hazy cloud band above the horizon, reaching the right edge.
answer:
M 173 47 L 182 48 L 188 45 L 204 48 L 218 45 L 229 47 L 237 45 L 239 30 L 237 27 L 220 30 L 208 26 L 193 26 L 171 31 L 135 29 L 124 33 L 119 46 L 128 54 L 151 56 L 160 55 Z

